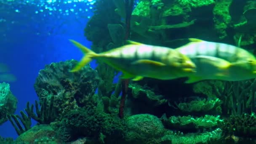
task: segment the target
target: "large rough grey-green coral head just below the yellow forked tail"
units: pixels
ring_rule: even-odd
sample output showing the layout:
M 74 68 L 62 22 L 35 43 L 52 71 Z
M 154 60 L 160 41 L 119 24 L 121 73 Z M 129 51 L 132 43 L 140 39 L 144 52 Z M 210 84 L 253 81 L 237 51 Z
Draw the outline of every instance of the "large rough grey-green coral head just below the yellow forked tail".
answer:
M 60 113 L 86 105 L 100 79 L 89 65 L 78 72 L 69 72 L 76 64 L 75 60 L 61 61 L 40 70 L 34 85 L 40 103 L 43 103 L 43 98 L 50 101 L 54 96 L 54 106 Z

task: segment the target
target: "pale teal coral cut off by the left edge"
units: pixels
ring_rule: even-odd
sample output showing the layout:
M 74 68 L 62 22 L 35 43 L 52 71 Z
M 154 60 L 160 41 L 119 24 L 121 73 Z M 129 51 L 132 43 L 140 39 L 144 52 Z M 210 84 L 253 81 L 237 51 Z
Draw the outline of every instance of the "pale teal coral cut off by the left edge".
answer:
M 17 99 L 10 91 L 8 83 L 0 83 L 0 125 L 8 119 L 6 115 L 13 114 L 17 108 Z

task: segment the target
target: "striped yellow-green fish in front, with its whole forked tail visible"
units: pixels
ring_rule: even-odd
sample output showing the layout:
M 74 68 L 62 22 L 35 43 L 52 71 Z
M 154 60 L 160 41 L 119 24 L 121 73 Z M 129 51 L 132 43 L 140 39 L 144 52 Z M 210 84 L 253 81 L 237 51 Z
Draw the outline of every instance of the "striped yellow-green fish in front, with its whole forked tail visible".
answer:
M 186 77 L 195 69 L 195 64 L 187 56 L 167 47 L 127 40 L 127 44 L 119 48 L 95 53 L 75 40 L 70 40 L 70 42 L 85 53 L 85 56 L 70 72 L 79 71 L 93 59 L 121 71 L 123 73 L 121 78 L 135 81 L 143 77 L 171 80 Z

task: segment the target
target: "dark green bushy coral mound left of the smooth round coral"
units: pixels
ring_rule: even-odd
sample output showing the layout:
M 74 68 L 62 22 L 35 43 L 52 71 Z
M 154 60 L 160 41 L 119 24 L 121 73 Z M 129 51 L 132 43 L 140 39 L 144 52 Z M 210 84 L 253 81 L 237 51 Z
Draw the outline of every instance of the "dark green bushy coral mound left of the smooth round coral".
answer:
M 89 137 L 96 141 L 101 133 L 107 136 L 104 141 L 122 141 L 124 133 L 124 125 L 122 121 L 115 115 L 109 115 L 97 110 L 96 108 L 75 109 L 67 112 L 61 120 L 59 134 L 66 131 L 66 137 L 70 137 L 67 141 L 72 141 L 78 137 Z M 66 129 L 66 130 L 65 130 Z

